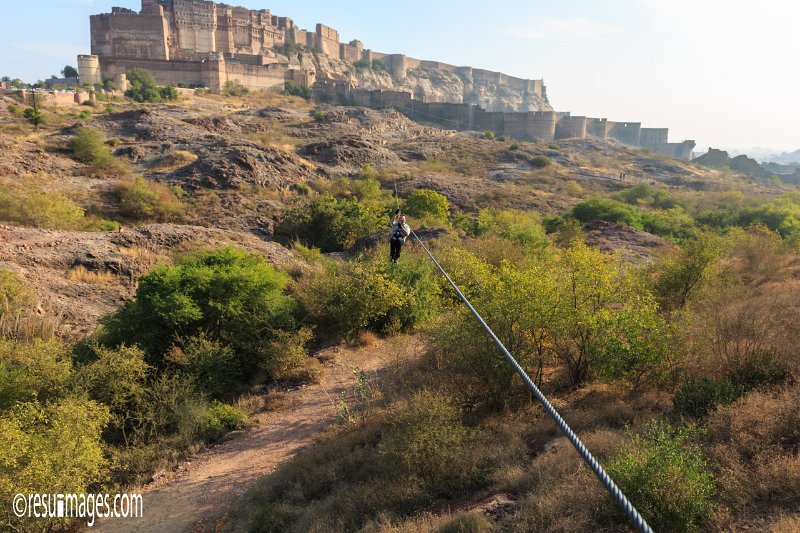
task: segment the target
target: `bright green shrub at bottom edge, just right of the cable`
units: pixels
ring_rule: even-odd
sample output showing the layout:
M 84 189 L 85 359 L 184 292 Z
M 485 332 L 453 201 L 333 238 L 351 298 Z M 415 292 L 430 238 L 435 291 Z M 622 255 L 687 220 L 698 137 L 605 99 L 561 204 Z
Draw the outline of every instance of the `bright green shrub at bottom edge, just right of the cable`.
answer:
M 691 429 L 652 422 L 608 465 L 656 531 L 696 531 L 713 510 L 714 478 L 694 436 Z

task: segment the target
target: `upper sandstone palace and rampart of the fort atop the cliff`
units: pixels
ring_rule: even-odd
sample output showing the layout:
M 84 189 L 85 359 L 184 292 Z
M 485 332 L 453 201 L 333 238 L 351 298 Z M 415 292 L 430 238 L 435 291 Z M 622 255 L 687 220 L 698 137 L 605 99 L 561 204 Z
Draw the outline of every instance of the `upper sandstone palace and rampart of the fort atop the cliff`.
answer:
M 142 0 L 140 12 L 113 8 L 111 13 L 94 15 L 90 20 L 92 54 L 101 59 L 113 59 L 101 60 L 101 65 L 108 63 L 118 67 L 134 59 L 202 62 L 213 54 L 222 54 L 225 59 L 236 59 L 241 64 L 259 64 L 258 58 L 275 57 L 274 47 L 296 44 L 351 63 L 380 59 L 398 80 L 405 79 L 411 69 L 424 68 L 452 72 L 473 83 L 507 85 L 538 97 L 546 96 L 542 80 L 525 80 L 499 72 L 365 50 L 358 41 L 341 43 L 339 32 L 334 28 L 317 24 L 314 31 L 303 30 L 297 28 L 291 18 L 273 15 L 267 9 L 252 10 L 210 0 Z M 265 63 L 260 61 L 260 64 Z M 168 83 L 184 79 L 187 69 L 200 68 L 176 64 L 174 75 L 169 75 L 168 69 L 158 68 L 156 79 Z M 102 75 L 110 77 L 105 72 Z M 252 84 L 246 82 L 249 88 L 263 85 L 259 80 L 252 81 Z

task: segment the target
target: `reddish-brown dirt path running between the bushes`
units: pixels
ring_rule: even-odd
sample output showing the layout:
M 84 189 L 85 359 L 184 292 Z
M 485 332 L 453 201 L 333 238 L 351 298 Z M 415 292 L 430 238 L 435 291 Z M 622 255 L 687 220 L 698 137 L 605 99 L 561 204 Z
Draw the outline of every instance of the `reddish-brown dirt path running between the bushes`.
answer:
M 287 393 L 276 410 L 256 414 L 254 427 L 243 436 L 201 452 L 177 470 L 144 489 L 144 518 L 108 519 L 92 531 L 103 532 L 205 532 L 214 531 L 213 518 L 225 512 L 259 477 L 291 458 L 301 447 L 337 418 L 330 398 L 351 393 L 352 368 L 368 374 L 385 368 L 397 354 L 391 341 L 361 348 L 332 348 L 333 357 L 320 385 Z M 410 350 L 415 342 L 405 343 Z

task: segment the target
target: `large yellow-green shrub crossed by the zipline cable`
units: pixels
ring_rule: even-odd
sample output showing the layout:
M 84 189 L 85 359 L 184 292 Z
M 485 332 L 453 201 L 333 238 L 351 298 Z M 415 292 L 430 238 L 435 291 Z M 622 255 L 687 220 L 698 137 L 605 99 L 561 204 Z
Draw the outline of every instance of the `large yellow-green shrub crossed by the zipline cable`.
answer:
M 506 347 L 534 379 L 544 361 L 561 362 L 577 385 L 592 376 L 660 379 L 669 330 L 652 294 L 617 254 L 574 243 L 555 256 L 492 266 L 466 252 L 443 261 Z M 504 406 L 513 372 L 463 308 L 436 324 L 442 368 L 461 381 L 465 401 L 489 397 Z

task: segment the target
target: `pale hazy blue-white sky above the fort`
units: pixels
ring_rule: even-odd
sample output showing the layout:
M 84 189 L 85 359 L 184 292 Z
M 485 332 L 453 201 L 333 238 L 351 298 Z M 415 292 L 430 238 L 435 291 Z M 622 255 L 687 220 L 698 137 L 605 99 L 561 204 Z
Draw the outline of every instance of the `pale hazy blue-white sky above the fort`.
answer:
M 698 150 L 800 148 L 800 3 L 785 0 L 238 0 L 343 41 L 544 78 L 575 115 L 669 127 Z M 89 52 L 89 15 L 138 0 L 0 0 L 0 76 L 35 81 Z M 14 21 L 9 23 L 9 21 Z

